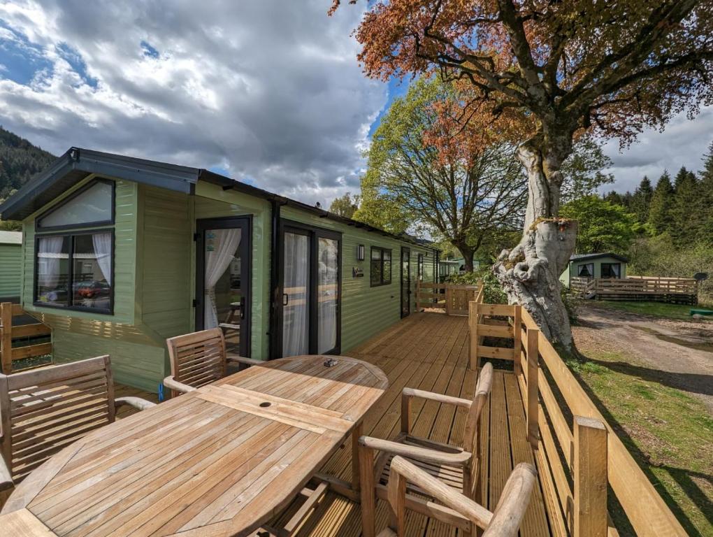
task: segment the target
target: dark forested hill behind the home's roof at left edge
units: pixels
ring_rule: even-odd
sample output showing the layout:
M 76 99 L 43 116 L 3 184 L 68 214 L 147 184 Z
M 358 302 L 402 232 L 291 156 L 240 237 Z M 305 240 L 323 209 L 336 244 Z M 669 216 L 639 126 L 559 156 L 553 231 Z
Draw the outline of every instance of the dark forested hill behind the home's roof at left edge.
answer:
M 0 198 L 27 183 L 50 165 L 55 156 L 0 127 Z

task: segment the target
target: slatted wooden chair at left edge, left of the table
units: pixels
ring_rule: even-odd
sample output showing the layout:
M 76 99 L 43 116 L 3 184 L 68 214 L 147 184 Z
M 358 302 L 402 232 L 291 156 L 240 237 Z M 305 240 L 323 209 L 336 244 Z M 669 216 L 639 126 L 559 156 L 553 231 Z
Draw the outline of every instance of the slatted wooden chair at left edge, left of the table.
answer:
M 108 356 L 0 374 L 0 490 L 19 484 L 89 431 L 112 423 L 120 405 L 143 410 L 154 403 L 114 399 Z

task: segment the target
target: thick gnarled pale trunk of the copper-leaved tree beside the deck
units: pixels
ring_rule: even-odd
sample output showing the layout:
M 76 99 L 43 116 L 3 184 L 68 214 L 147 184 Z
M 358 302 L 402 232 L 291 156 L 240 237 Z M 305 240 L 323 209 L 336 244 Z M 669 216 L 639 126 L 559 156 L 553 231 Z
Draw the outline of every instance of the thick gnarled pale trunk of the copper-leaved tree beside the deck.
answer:
M 541 145 L 541 138 L 533 138 L 518 148 L 518 160 L 528 174 L 523 237 L 513 250 L 503 250 L 493 270 L 508 302 L 525 307 L 550 341 L 571 350 L 572 329 L 559 278 L 575 249 L 577 223 L 557 218 L 560 165 L 569 148 L 563 143 L 557 150 L 543 151 Z

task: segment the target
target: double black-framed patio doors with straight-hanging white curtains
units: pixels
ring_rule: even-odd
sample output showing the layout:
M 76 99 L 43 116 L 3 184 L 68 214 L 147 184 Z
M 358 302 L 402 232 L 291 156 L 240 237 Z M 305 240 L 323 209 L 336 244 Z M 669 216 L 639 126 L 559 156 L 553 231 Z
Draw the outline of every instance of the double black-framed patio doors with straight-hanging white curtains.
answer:
M 282 225 L 281 357 L 339 354 L 341 245 L 339 233 Z

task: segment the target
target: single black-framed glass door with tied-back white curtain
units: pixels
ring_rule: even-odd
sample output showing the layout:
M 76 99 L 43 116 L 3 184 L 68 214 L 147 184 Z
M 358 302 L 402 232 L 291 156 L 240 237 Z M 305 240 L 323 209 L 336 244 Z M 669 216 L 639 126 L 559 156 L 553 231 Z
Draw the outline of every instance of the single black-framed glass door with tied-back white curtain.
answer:
M 250 356 L 250 217 L 196 221 L 195 329 L 222 328 Z

